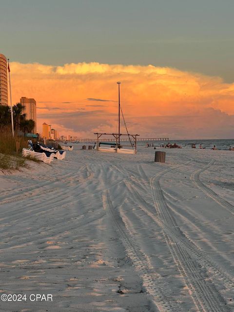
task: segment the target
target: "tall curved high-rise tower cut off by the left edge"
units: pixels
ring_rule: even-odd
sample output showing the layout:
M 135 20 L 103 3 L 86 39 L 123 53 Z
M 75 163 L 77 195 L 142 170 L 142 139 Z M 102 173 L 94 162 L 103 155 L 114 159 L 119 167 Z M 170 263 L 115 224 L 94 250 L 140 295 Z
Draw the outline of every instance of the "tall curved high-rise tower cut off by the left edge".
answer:
M 0 105 L 8 105 L 7 60 L 0 54 Z

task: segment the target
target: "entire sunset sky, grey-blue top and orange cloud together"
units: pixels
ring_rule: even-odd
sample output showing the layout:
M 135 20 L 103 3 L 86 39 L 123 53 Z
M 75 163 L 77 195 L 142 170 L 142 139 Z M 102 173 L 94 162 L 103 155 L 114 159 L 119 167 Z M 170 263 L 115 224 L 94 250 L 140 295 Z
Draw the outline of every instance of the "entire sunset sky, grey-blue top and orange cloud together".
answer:
M 38 125 L 117 130 L 117 81 L 141 137 L 233 138 L 233 0 L 0 0 L 13 102 Z

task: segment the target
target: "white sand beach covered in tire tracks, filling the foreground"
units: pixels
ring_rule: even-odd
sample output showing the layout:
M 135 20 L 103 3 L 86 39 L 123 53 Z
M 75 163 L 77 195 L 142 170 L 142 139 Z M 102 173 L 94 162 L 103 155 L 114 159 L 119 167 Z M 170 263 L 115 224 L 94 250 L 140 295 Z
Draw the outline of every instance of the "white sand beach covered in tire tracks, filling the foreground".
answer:
M 78 147 L 0 176 L 0 292 L 53 294 L 0 311 L 234 311 L 234 152 Z

